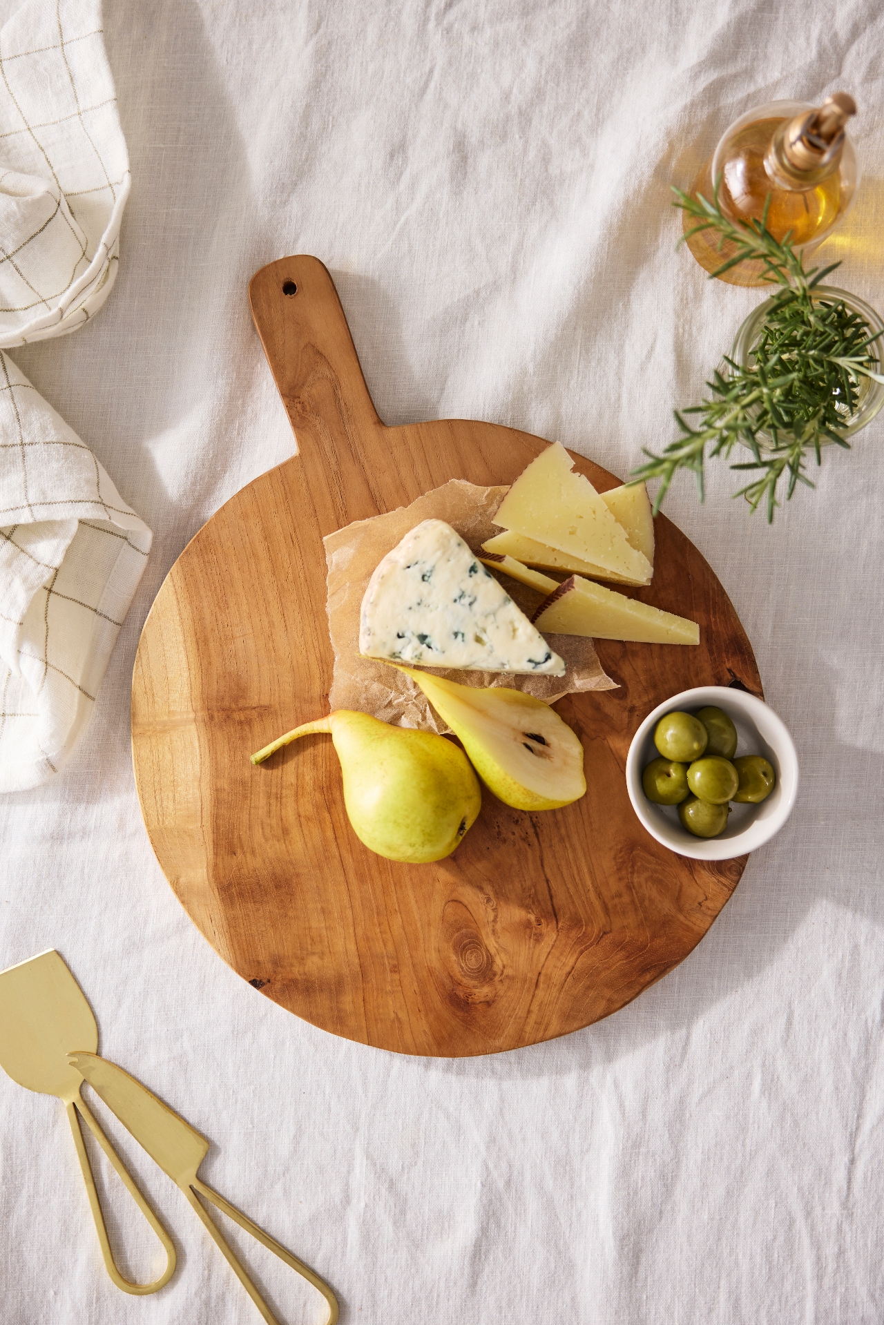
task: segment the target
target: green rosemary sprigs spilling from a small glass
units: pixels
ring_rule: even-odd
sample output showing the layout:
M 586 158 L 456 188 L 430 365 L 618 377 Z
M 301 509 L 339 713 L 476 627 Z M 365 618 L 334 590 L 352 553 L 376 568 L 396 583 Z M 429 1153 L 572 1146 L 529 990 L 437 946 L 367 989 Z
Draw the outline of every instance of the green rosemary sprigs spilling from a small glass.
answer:
M 712 229 L 720 236 L 720 252 L 725 244 L 733 249 L 712 277 L 738 262 L 761 261 L 763 280 L 782 292 L 773 299 L 750 363 L 744 367 L 725 356 L 726 370 L 716 370 L 706 383 L 710 398 L 673 411 L 683 436 L 659 456 L 643 448 L 648 462 L 632 470 L 632 482 L 661 480 L 653 502 L 656 515 L 675 474 L 688 469 L 702 501 L 706 456 L 728 458 L 738 443 L 745 443 L 751 461 L 730 468 L 754 470 L 757 477 L 734 497 L 745 497 L 753 510 L 763 505 L 771 522 L 781 478 L 786 480 L 789 500 L 799 482 L 814 486 L 804 465 L 810 454 L 820 464 L 823 443 L 850 450 L 844 427 L 856 409 L 860 378 L 884 383 L 875 371 L 880 367 L 877 355 L 869 348 L 883 333 L 871 335 L 868 323 L 843 299 L 814 293 L 840 264 L 806 272 L 790 236 L 775 240 L 767 229 L 767 207 L 761 221 L 732 221 L 718 204 L 717 184 L 712 203 L 677 188 L 673 192 L 673 205 L 697 220 L 684 238 Z M 687 421 L 688 415 L 700 416 L 698 427 Z

